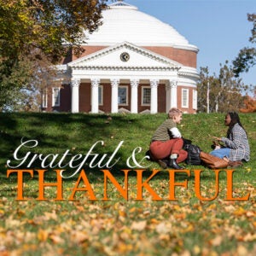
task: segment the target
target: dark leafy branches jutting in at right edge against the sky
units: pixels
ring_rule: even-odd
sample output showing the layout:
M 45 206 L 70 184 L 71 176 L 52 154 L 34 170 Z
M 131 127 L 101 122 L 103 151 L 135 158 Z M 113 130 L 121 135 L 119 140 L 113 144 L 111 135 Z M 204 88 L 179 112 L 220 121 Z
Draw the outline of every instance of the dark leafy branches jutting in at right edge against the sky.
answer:
M 249 41 L 252 44 L 256 43 L 256 14 L 248 14 L 247 20 L 253 22 L 252 36 Z M 235 76 L 238 77 L 240 73 L 248 72 L 251 67 L 256 65 L 256 48 L 245 47 L 240 50 L 236 59 L 233 61 Z

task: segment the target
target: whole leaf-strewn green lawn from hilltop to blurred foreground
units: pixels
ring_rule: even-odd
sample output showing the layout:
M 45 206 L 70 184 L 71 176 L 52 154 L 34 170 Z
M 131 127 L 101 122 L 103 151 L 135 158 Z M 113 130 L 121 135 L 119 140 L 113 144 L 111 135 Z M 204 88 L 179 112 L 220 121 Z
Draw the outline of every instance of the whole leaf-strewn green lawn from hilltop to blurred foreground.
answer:
M 231 188 L 231 170 L 186 166 L 173 175 L 143 160 L 165 114 L 0 113 L 0 255 L 255 255 L 256 113 L 240 117 L 251 160 Z M 208 135 L 227 130 L 220 113 L 183 114 L 179 128 L 206 152 Z M 16 169 L 26 170 L 22 195 Z M 69 178 L 44 187 L 43 169 L 44 183 L 57 183 L 55 169 Z M 106 187 L 104 173 L 113 178 Z

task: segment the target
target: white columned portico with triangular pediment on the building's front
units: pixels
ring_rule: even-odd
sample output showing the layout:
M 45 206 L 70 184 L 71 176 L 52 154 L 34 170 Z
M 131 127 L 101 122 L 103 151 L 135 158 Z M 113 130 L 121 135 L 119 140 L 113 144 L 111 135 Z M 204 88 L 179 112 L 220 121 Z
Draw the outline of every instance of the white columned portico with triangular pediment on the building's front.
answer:
M 121 55 L 124 53 L 129 56 L 129 61 L 122 61 Z M 104 63 L 106 58 L 108 58 L 108 65 Z M 80 111 L 79 87 L 83 81 L 90 84 L 90 113 L 99 113 L 99 91 L 101 94 L 99 86 L 101 84 L 110 84 L 111 86 L 111 113 L 119 112 L 121 103 L 119 85 L 124 83 L 128 84 L 129 91 L 131 91 L 131 96 L 127 96 L 127 101 L 130 102 L 125 102 L 127 106 L 131 105 L 131 108 L 126 107 L 128 112 L 139 113 L 138 88 L 142 84 L 148 86 L 150 90 L 150 96 L 148 96 L 150 101 L 148 102 L 148 111 L 150 113 L 158 113 L 158 102 L 161 100 L 158 96 L 159 84 L 165 85 L 166 112 L 172 107 L 177 107 L 177 85 L 182 82 L 182 79 L 179 78 L 179 71 L 183 70 L 183 65 L 147 49 L 124 42 L 73 61 L 67 65 L 67 68 L 70 68 L 70 73 L 72 73 L 72 113 Z M 187 77 L 189 78 L 191 75 L 193 72 L 190 71 Z M 124 94 L 128 93 L 128 90 L 123 91 Z M 140 94 L 142 93 L 140 92 Z

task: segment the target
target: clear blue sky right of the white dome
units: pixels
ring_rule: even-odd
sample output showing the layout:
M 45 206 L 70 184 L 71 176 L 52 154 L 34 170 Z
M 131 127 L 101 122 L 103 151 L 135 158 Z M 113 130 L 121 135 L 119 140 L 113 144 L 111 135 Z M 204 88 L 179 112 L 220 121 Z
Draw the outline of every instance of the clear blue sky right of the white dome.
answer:
M 125 0 L 125 3 L 173 26 L 196 45 L 197 67 L 218 73 L 219 63 L 235 59 L 243 47 L 256 47 L 248 41 L 253 23 L 247 13 L 256 13 L 255 0 Z M 256 85 L 256 67 L 242 74 L 245 84 Z

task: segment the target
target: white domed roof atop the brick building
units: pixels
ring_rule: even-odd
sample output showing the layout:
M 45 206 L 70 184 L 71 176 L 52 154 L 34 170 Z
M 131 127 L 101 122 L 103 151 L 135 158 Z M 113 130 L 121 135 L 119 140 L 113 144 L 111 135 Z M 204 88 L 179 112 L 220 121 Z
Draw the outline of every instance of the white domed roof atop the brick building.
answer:
M 87 45 L 113 45 L 130 42 L 139 46 L 172 46 L 197 51 L 195 45 L 172 26 L 140 12 L 137 7 L 117 1 L 102 11 L 102 26 L 92 34 L 86 32 Z

